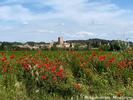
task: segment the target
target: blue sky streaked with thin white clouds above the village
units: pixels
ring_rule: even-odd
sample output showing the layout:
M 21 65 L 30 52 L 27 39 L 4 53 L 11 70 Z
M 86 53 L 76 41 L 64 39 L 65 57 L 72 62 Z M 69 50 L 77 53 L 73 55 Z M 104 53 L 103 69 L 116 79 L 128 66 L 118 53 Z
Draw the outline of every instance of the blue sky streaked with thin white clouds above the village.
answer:
M 0 41 L 133 41 L 133 0 L 0 0 Z

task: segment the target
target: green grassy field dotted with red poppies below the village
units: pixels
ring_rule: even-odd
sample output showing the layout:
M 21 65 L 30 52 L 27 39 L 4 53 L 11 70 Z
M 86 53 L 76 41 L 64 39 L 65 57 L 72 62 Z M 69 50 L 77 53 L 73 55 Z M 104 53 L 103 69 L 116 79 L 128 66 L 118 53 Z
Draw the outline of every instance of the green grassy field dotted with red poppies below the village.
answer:
M 0 100 L 133 97 L 133 50 L 1 51 Z

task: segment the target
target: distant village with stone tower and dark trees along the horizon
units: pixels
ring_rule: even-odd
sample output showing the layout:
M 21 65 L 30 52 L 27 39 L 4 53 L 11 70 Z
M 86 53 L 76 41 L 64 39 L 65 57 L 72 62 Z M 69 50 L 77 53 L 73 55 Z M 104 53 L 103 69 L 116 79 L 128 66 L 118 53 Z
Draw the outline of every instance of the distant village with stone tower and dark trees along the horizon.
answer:
M 105 40 L 105 39 L 88 39 L 88 40 L 65 40 L 63 36 L 58 37 L 55 41 L 46 42 L 0 42 L 0 50 L 57 50 L 57 49 L 74 49 L 88 50 L 102 48 L 107 51 L 117 51 L 124 48 L 131 48 L 132 42 L 122 40 Z

